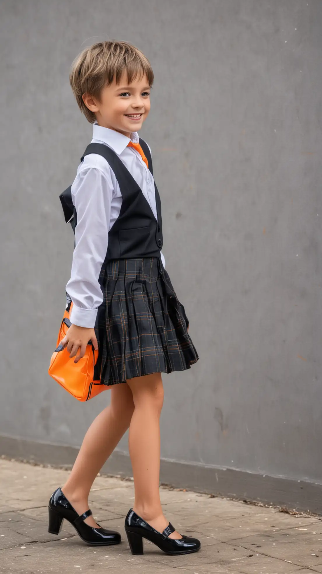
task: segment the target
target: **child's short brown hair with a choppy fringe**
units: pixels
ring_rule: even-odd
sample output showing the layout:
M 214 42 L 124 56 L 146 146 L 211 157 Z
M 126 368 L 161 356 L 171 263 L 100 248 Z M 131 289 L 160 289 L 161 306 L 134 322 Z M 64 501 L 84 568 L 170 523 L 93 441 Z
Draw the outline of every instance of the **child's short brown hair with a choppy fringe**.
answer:
M 153 84 L 154 75 L 149 60 L 129 42 L 96 42 L 75 58 L 69 72 L 69 82 L 88 122 L 94 123 L 96 117 L 84 104 L 83 94 L 87 92 L 99 100 L 102 88 L 110 86 L 114 77 L 118 84 L 124 71 L 127 72 L 129 83 L 138 73 L 142 73 L 148 77 L 149 86 Z

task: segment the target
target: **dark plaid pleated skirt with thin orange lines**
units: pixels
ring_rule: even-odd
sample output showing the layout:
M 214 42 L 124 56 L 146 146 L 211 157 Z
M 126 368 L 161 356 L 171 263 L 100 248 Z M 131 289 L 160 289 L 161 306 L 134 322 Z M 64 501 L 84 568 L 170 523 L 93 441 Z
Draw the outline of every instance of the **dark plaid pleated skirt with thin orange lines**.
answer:
M 111 386 L 141 375 L 190 369 L 199 356 L 161 259 L 114 259 L 101 273 L 100 382 Z

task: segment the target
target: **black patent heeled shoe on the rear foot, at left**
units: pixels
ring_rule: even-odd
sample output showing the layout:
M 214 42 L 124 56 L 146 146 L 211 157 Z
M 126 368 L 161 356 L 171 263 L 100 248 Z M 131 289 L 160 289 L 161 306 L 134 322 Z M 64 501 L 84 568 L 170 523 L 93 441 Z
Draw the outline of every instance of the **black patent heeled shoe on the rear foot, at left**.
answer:
M 48 504 L 49 523 L 48 532 L 51 534 L 59 534 L 61 525 L 64 518 L 70 522 L 75 528 L 77 534 L 87 544 L 92 546 L 103 546 L 111 544 L 119 544 L 121 542 L 121 534 L 115 530 L 106 530 L 105 528 L 93 528 L 88 526 L 84 519 L 92 514 L 90 509 L 86 510 L 83 514 L 77 514 L 71 503 L 67 500 L 63 491 L 56 488 L 55 492 L 51 495 Z

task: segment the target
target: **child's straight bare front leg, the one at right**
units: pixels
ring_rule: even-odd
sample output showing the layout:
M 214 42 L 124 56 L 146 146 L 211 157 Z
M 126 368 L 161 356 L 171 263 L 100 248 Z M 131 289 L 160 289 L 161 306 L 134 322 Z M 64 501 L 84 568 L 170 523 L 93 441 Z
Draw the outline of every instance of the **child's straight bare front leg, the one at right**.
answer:
M 161 373 L 128 379 L 134 413 L 130 422 L 129 451 L 134 478 L 133 510 L 158 532 L 169 521 L 160 500 L 160 414 L 164 400 Z M 175 531 L 169 538 L 182 538 Z

